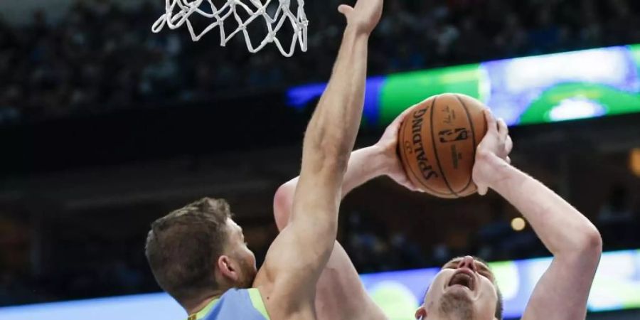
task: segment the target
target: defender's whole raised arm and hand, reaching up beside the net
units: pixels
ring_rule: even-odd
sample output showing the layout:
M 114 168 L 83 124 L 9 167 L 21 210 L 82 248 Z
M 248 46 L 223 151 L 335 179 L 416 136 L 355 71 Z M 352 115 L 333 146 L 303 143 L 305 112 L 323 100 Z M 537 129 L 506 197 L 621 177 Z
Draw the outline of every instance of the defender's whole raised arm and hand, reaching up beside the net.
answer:
M 343 175 L 361 121 L 368 38 L 382 6 L 382 0 L 359 0 L 354 8 L 338 9 L 347 27 L 333 75 L 306 130 L 289 224 L 255 281 L 274 319 L 314 316 L 316 282 L 336 240 Z

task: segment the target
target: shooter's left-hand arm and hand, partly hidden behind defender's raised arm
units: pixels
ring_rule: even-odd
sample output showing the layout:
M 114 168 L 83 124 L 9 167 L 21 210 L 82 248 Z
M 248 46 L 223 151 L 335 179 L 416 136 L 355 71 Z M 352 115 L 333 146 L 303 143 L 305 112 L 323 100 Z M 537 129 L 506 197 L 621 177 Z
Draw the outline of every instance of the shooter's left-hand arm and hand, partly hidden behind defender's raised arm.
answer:
M 351 153 L 342 183 L 343 197 L 353 188 L 382 175 L 390 176 L 403 186 L 415 190 L 396 152 L 398 129 L 405 114 L 387 127 L 378 143 Z M 299 178 L 294 178 L 284 183 L 274 196 L 273 213 L 278 230 L 283 230 L 289 223 L 298 181 Z M 337 241 L 316 285 L 316 311 L 321 320 L 386 319 L 380 307 L 367 294 L 356 267 Z

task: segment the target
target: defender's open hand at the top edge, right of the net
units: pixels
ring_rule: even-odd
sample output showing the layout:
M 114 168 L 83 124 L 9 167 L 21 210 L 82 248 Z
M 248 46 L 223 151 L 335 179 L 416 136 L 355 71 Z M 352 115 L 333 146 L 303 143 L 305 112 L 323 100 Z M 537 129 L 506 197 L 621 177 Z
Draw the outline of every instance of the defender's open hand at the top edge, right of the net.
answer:
M 349 26 L 356 31 L 369 34 L 380 22 L 382 16 L 383 0 L 358 0 L 356 6 L 341 4 L 338 11 L 343 14 Z

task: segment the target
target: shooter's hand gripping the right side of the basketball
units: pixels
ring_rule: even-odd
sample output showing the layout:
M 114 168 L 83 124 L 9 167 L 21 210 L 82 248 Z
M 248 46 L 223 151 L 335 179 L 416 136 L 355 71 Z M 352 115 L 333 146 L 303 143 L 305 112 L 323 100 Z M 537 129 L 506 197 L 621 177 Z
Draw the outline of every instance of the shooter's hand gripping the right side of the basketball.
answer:
M 496 119 L 489 109 L 484 110 L 486 119 L 486 135 L 476 148 L 473 179 L 478 193 L 484 196 L 493 183 L 500 179 L 495 174 L 496 164 L 511 164 L 509 154 L 513 149 L 513 141 L 509 137 L 509 129 L 503 119 Z

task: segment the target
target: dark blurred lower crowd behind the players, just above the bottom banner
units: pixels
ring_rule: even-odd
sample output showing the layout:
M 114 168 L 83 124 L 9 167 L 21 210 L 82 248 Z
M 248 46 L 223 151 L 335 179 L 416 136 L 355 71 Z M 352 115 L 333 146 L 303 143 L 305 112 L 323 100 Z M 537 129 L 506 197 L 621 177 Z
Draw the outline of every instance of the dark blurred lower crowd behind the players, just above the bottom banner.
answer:
M 604 239 L 604 250 L 640 247 L 640 198 L 630 189 L 615 185 L 592 222 Z M 444 237 L 424 242 L 408 230 L 393 230 L 387 223 L 364 211 L 341 213 L 341 243 L 358 272 L 419 269 L 443 265 L 452 257 L 476 255 L 489 261 L 519 260 L 550 255 L 533 229 L 514 230 L 512 218 L 519 214 L 505 201 L 494 199 L 489 220 L 466 235 L 447 230 Z M 265 213 L 270 216 L 270 213 Z M 34 225 L 21 219 L 0 216 L 0 306 L 66 299 L 85 299 L 122 294 L 157 292 L 159 288 L 144 257 L 144 237 L 140 230 L 131 238 L 101 239 L 75 235 L 73 228 L 45 233 L 50 250 L 38 257 L 34 245 Z M 257 265 L 264 257 L 277 230 L 272 220 L 242 223 Z M 428 228 L 422 232 L 430 233 Z M 449 235 L 464 242 L 447 242 Z M 43 261 L 46 259 L 46 261 Z M 37 266 L 40 267 L 37 267 Z

